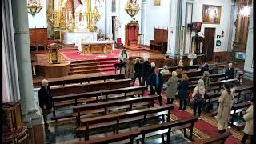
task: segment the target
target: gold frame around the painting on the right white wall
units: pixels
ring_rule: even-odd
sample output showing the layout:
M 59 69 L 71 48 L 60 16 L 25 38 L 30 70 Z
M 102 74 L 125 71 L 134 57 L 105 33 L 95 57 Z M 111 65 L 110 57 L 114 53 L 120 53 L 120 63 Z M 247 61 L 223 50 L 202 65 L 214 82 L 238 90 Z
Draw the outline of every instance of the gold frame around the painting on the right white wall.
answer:
M 217 8 L 218 10 L 218 22 L 210 22 L 210 21 L 206 21 L 205 17 L 205 10 L 206 10 L 206 7 L 214 7 L 214 8 Z M 202 5 L 202 23 L 203 24 L 220 24 L 221 23 L 221 16 L 222 16 L 222 6 L 215 6 L 215 5 Z

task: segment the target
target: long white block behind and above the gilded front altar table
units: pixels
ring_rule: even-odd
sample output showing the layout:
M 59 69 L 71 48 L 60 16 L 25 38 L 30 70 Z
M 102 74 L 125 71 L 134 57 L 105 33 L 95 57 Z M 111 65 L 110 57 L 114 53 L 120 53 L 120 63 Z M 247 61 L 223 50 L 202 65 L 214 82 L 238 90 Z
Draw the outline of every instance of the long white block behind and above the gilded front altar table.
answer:
M 64 32 L 63 42 L 66 44 L 78 44 L 79 41 L 94 42 L 97 41 L 96 32 Z

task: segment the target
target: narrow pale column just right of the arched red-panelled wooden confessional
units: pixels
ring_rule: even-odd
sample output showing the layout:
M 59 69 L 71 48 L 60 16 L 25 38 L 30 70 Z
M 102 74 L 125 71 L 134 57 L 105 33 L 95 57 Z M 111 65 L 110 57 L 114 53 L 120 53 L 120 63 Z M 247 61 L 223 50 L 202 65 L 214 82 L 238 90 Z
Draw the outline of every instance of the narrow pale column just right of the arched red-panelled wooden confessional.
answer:
M 141 17 L 141 34 L 142 35 L 142 45 L 145 45 L 145 33 L 146 33 L 146 0 L 142 0 L 142 17 Z

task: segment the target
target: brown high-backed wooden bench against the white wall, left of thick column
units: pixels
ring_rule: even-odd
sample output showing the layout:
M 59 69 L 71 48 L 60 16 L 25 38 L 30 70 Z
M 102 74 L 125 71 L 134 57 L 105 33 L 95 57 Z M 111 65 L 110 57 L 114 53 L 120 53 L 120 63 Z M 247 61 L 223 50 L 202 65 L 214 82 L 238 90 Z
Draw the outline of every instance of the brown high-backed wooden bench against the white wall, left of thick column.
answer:
M 160 54 L 166 54 L 167 41 L 168 30 L 154 28 L 154 40 L 150 40 L 150 50 L 156 51 Z

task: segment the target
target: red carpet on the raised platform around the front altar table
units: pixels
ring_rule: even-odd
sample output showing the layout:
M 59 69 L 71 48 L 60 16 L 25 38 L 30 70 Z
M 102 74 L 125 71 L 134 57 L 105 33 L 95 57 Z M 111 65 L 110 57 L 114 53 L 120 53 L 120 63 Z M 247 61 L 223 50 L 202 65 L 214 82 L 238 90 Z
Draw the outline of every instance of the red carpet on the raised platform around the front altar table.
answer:
M 86 60 L 86 59 L 95 59 L 95 60 L 115 60 L 118 59 L 119 50 L 113 50 L 111 54 L 78 54 L 78 49 L 73 50 L 60 50 L 60 53 L 68 60 L 76 61 L 76 60 Z M 128 53 L 129 54 L 129 53 Z M 133 54 L 129 54 L 129 56 L 133 56 Z

